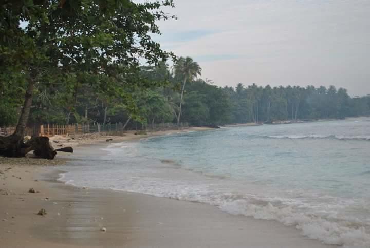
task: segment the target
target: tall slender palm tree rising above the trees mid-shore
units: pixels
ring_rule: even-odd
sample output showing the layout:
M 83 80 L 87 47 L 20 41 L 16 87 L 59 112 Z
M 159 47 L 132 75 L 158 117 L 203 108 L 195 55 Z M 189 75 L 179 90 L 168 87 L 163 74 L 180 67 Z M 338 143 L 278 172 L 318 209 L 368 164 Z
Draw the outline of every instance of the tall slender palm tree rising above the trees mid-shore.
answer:
M 195 62 L 192 58 L 180 57 L 177 59 L 176 63 L 174 64 L 173 70 L 174 70 L 175 76 L 183 77 L 179 113 L 177 115 L 177 127 L 178 127 L 180 123 L 180 117 L 181 117 L 182 98 L 183 98 L 183 92 L 185 90 L 185 85 L 187 82 L 191 82 L 194 78 L 197 78 L 198 75 L 201 75 L 201 68 L 199 64 Z

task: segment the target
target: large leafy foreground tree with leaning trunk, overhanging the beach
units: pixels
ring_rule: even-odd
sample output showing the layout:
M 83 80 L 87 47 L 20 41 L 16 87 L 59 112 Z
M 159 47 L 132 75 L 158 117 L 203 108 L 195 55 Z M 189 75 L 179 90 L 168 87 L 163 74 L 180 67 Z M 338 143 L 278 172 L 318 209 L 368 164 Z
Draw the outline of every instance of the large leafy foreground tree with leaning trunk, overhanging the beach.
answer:
M 14 137 L 0 142 L 0 155 L 22 156 L 24 130 L 36 85 L 89 84 L 130 101 L 125 88 L 137 84 L 139 60 L 156 64 L 172 53 L 150 34 L 160 34 L 156 21 L 167 19 L 160 8 L 172 0 L 2 1 L 0 10 L 1 79 L 25 82 L 25 97 Z M 20 27 L 20 23 L 24 27 Z M 20 84 L 20 87 L 23 85 Z M 147 85 L 140 85 L 147 87 Z

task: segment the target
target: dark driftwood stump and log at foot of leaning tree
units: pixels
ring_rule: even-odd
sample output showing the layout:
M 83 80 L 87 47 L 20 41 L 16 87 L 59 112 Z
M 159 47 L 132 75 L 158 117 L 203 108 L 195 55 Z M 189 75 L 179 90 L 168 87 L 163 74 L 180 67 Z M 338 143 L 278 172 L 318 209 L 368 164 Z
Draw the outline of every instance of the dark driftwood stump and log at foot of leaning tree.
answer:
M 48 137 L 32 137 L 27 142 L 24 142 L 22 136 L 17 135 L 0 137 L 0 156 L 25 157 L 32 150 L 36 157 L 43 159 L 54 159 L 55 155 L 57 155 L 57 150 L 73 152 L 72 147 L 54 150 L 50 145 Z

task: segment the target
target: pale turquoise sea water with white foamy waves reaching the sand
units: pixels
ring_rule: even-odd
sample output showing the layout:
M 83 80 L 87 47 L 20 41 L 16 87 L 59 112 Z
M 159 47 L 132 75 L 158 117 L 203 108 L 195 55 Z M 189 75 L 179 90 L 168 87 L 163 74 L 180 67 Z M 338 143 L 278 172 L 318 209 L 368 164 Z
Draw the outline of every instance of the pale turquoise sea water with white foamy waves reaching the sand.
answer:
M 370 118 L 174 132 L 111 144 L 65 170 L 69 184 L 207 203 L 370 247 Z

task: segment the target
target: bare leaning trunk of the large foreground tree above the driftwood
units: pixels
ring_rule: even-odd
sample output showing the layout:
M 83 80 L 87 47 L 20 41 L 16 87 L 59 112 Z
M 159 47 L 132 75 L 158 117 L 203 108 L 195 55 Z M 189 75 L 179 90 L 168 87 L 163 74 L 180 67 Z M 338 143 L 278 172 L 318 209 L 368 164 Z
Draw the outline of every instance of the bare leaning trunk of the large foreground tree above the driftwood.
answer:
M 21 112 L 20 118 L 18 119 L 18 124 L 14 132 L 14 135 L 20 136 L 22 137 L 22 139 L 23 139 L 23 136 L 26 130 L 29 111 L 32 105 L 33 86 L 34 86 L 33 79 L 31 79 L 30 82 L 28 83 L 28 87 L 25 93 L 25 101 L 23 103 L 22 112 Z

